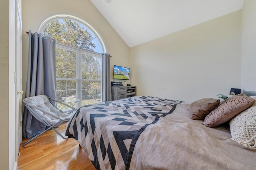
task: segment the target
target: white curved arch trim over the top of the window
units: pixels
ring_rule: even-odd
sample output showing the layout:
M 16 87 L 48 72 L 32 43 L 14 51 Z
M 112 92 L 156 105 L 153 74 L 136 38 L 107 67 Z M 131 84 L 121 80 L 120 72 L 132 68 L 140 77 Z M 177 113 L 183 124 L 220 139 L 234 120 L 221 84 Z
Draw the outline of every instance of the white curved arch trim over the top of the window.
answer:
M 59 20 L 59 19 L 69 19 L 69 20 L 73 20 L 73 21 L 77 21 L 79 23 L 84 24 L 86 27 L 88 27 L 88 29 L 90 29 L 90 31 L 92 31 L 96 37 L 98 38 L 100 45 L 102 47 L 102 53 L 107 53 L 106 51 L 106 46 L 104 44 L 103 39 L 101 38 L 101 36 L 99 35 L 99 33 L 86 21 L 76 17 L 76 16 L 72 16 L 72 15 L 68 15 L 68 14 L 57 14 L 57 15 L 53 15 L 50 16 L 48 18 L 46 18 L 46 20 L 44 20 L 41 25 L 38 28 L 38 32 L 41 33 L 42 30 L 44 29 L 44 27 L 46 27 L 46 25 L 48 25 L 51 21 L 54 20 Z

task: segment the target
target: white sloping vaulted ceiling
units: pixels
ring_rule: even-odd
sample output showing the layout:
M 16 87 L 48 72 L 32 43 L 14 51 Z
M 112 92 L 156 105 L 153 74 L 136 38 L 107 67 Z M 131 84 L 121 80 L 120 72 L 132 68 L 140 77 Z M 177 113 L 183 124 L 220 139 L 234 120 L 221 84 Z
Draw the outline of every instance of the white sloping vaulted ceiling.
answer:
M 91 0 L 129 47 L 242 9 L 244 0 Z

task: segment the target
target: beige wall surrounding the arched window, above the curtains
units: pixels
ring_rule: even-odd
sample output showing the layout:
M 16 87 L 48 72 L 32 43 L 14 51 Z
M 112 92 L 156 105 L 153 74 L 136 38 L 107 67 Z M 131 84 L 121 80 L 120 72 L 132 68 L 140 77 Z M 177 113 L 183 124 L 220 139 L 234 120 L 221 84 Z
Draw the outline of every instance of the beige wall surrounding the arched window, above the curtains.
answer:
M 28 64 L 28 35 L 25 31 L 29 29 L 38 31 L 35 29 L 38 21 L 43 21 L 48 16 L 55 14 L 76 16 L 96 29 L 105 41 L 107 53 L 112 55 L 110 59 L 111 75 L 113 75 L 114 64 L 126 67 L 130 66 L 128 45 L 126 45 L 123 39 L 89 0 L 22 0 L 22 87 L 24 91 L 26 88 Z M 25 94 L 23 95 L 24 97 Z

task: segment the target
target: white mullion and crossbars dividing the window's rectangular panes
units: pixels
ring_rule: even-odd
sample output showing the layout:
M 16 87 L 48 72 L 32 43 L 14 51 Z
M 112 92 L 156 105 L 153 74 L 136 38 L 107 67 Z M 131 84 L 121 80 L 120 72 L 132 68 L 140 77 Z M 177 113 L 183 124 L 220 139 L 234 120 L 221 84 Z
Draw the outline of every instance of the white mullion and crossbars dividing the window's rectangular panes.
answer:
M 76 80 L 76 99 L 80 99 L 80 101 L 76 103 L 76 107 L 79 108 L 82 106 L 82 82 L 83 81 L 99 81 L 101 84 L 101 92 L 102 92 L 102 76 L 101 76 L 101 79 L 82 79 L 82 54 L 92 55 L 92 56 L 98 57 L 98 58 L 102 58 L 102 54 L 97 53 L 97 52 L 88 51 L 85 49 L 80 49 L 78 47 L 73 47 L 71 45 L 66 45 L 66 44 L 63 44 L 60 42 L 56 42 L 56 48 L 60 48 L 60 49 L 68 50 L 68 51 L 74 51 L 76 53 L 76 78 L 74 79 L 74 78 L 57 78 L 56 77 L 56 81 L 58 81 L 58 80 Z M 56 92 L 57 91 L 59 91 L 59 90 L 56 90 Z M 102 97 L 101 97 L 101 100 L 98 102 L 102 102 Z

